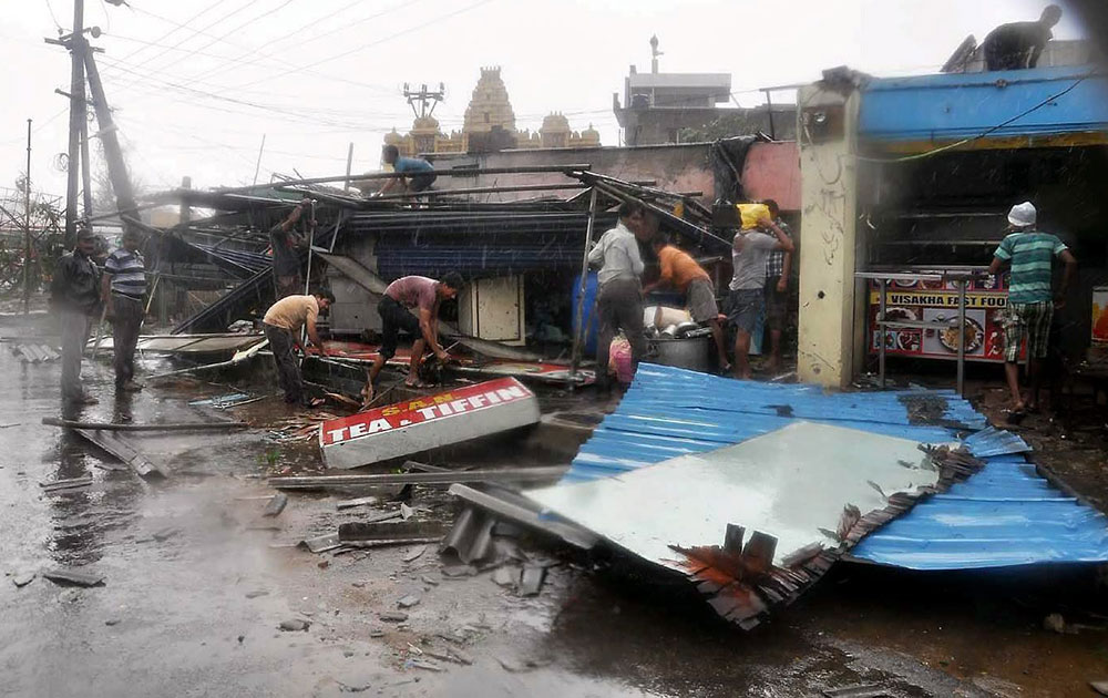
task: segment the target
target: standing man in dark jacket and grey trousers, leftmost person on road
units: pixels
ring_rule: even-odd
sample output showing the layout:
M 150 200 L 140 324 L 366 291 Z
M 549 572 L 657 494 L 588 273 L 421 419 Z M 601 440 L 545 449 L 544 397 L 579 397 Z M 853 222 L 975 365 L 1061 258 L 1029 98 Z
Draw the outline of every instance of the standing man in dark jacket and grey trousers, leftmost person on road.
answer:
M 62 332 L 62 399 L 72 404 L 99 402 L 81 384 L 81 357 L 92 318 L 100 312 L 100 268 L 92 261 L 95 250 L 96 236 L 82 223 L 76 247 L 58 260 L 50 283 L 50 307 Z

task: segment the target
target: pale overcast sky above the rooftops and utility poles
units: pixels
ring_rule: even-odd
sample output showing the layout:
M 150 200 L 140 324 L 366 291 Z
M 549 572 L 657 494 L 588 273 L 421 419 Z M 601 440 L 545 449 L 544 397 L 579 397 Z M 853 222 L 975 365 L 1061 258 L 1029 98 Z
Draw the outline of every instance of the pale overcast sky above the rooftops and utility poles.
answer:
M 649 70 L 649 38 L 665 72 L 728 72 L 735 97 L 809 82 L 847 64 L 875 75 L 936 72 L 970 33 L 1038 17 L 1033 0 L 86 0 L 85 25 L 135 178 L 147 187 L 249 184 L 266 134 L 271 173 L 376 170 L 382 135 L 406 132 L 404 82 L 447 85 L 435 116 L 459 129 L 482 65 L 502 66 L 520 129 L 551 111 L 592 123 L 618 144 L 612 93 L 628 65 Z M 37 189 L 65 191 L 69 58 L 43 43 L 72 25 L 72 0 L 3 0 L 0 186 L 25 167 L 34 120 Z M 1055 37 L 1080 38 L 1073 13 Z M 91 131 L 95 131 L 93 125 Z

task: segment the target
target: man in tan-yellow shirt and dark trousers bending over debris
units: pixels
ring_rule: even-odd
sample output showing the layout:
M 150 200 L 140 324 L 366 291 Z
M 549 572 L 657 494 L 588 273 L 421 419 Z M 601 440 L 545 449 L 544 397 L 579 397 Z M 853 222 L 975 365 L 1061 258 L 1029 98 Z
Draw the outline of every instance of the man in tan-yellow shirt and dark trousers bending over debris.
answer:
M 332 302 L 335 296 L 324 289 L 317 290 L 311 296 L 286 296 L 271 305 L 261 320 L 266 339 L 269 340 L 269 350 L 274 352 L 274 361 L 277 362 L 277 374 L 280 377 L 280 387 L 285 390 L 285 402 L 289 404 L 314 408 L 324 402 L 318 398 L 310 401 L 305 399 L 300 367 L 293 350 L 300 343 L 300 328 L 307 327 L 308 340 L 319 347 L 320 355 L 327 356 L 324 342 L 319 341 L 319 335 L 316 332 L 316 318 L 320 314 L 326 315 Z

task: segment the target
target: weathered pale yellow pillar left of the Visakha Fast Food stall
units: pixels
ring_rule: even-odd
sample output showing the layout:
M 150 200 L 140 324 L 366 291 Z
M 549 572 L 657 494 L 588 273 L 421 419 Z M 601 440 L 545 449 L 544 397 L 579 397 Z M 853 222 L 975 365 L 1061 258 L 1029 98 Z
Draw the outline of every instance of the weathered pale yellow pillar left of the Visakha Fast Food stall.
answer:
M 832 388 L 847 387 L 864 357 L 863 295 L 854 280 L 855 259 L 864 257 L 859 254 L 858 173 L 851 157 L 859 101 L 856 91 L 843 96 L 818 85 L 798 95 L 803 243 L 797 367 L 801 380 Z M 829 117 L 825 134 L 812 122 L 818 112 Z

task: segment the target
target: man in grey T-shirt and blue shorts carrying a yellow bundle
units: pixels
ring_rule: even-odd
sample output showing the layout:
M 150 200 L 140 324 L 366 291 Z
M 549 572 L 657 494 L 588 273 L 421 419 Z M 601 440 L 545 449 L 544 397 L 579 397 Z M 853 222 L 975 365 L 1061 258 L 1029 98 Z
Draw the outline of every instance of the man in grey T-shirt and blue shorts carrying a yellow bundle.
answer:
M 750 378 L 750 335 L 766 308 L 766 257 L 777 249 L 791 253 L 796 248 L 786 232 L 768 217 L 759 220 L 756 228 L 739 230 L 731 244 L 735 275 L 729 286 L 731 312 L 728 319 L 736 328 L 736 378 Z

